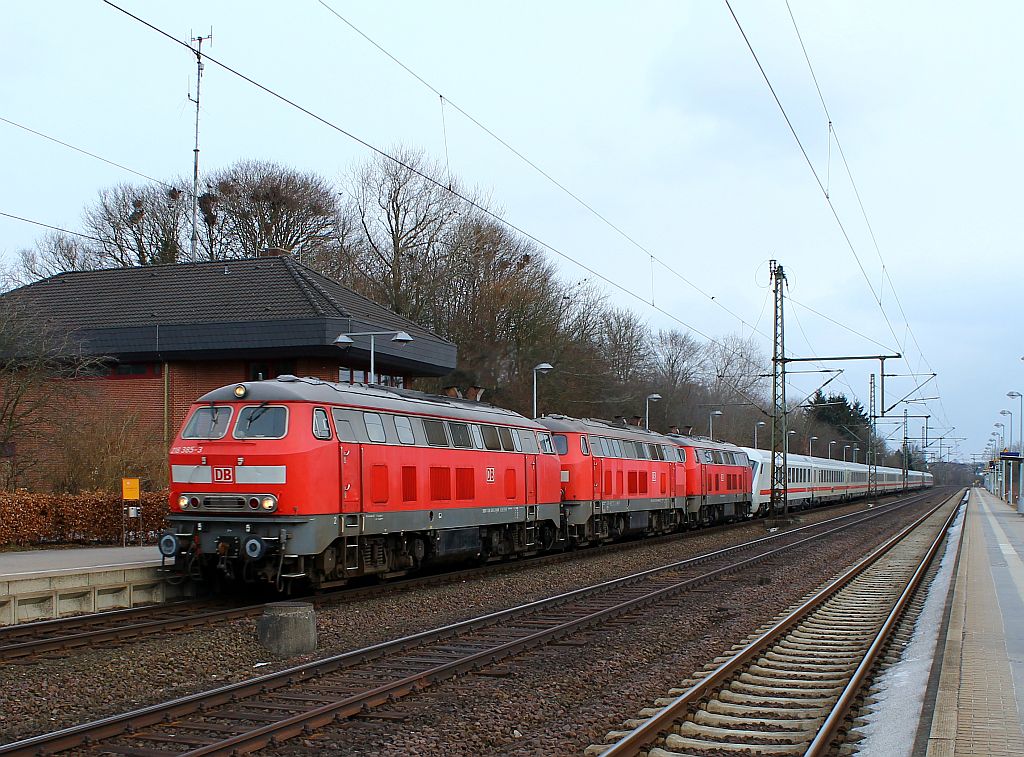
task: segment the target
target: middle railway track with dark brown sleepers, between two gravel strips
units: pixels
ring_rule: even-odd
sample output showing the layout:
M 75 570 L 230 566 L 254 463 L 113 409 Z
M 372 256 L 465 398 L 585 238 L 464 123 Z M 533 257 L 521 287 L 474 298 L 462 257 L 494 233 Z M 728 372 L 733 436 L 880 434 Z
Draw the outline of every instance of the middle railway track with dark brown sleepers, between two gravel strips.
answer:
M 934 493 L 904 500 L 920 504 Z M 884 517 L 804 525 L 364 649 L 0 747 L 0 754 L 138 757 L 247 753 L 344 721 L 431 684 L 599 627 L 753 564 Z M 840 522 L 837 522 L 840 521 Z

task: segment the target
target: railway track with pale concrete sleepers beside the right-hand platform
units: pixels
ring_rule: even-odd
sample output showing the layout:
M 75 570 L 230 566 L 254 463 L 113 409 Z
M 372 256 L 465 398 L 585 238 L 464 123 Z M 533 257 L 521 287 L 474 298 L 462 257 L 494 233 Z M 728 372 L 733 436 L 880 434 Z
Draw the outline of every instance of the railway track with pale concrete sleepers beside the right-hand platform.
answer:
M 835 753 L 851 707 L 967 498 L 934 508 L 588 754 Z

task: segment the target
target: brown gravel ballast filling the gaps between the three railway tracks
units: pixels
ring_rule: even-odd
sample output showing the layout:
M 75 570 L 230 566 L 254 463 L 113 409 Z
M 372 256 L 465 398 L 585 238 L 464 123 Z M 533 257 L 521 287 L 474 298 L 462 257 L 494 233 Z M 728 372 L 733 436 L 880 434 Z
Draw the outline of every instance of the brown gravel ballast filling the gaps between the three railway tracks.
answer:
M 863 505 L 805 513 L 802 520 L 857 509 Z M 746 541 L 764 531 L 759 521 L 602 556 L 584 550 L 570 562 L 322 609 L 315 656 L 274 660 L 256 642 L 255 620 L 244 619 L 113 650 L 76 650 L 65 659 L 9 664 L 0 672 L 0 743 L 588 586 Z M 578 752 L 831 575 L 841 561 L 864 551 L 879 540 L 876 532 L 835 540 L 797 565 L 778 565 L 763 586 L 734 577 L 687 594 L 654 618 L 592 633 L 586 646 L 574 638 L 545 647 L 517 659 L 514 675 L 498 670 L 497 676 L 473 675 L 438 686 L 403 705 L 404 722 L 356 721 L 345 729 L 348 734 L 325 731 L 279 748 L 279 753 L 348 752 L 353 749 L 349 738 L 360 745 L 360 754 Z

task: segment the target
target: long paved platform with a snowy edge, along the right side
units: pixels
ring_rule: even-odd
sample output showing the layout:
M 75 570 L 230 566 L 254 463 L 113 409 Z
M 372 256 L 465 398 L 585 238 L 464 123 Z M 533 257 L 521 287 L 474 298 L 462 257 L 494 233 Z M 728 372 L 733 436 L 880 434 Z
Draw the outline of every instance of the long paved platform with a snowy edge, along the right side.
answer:
M 1024 515 L 983 489 L 971 490 L 933 671 L 924 754 L 1024 755 Z

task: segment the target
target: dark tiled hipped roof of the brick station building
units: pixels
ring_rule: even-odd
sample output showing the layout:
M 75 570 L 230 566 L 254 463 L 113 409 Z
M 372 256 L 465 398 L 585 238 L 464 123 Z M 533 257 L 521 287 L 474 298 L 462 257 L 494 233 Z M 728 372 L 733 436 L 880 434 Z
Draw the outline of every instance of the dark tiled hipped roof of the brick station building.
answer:
M 414 342 L 378 339 L 382 368 L 440 375 L 455 345 L 288 255 L 58 274 L 3 295 L 51 327 L 73 332 L 94 353 L 124 359 L 160 353 L 290 350 L 337 355 L 342 332 L 400 330 Z M 366 352 L 355 339 L 350 355 Z M 348 361 L 351 362 L 351 361 Z

